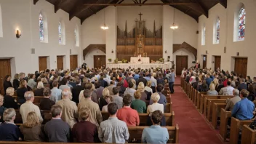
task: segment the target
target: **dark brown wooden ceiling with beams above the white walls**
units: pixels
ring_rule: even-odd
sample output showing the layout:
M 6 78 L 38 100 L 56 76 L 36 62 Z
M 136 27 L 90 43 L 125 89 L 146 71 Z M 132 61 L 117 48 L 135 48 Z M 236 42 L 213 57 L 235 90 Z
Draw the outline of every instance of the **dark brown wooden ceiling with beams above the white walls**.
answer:
M 33 0 L 33 4 L 39 0 Z M 133 4 L 123 4 L 124 0 L 47 0 L 55 6 L 55 12 L 63 9 L 69 13 L 69 20 L 79 17 L 81 23 L 91 15 L 108 6 L 143 6 L 143 5 L 169 5 L 175 7 L 186 15 L 193 17 L 197 22 L 201 15 L 208 17 L 208 11 L 215 4 L 220 3 L 227 8 L 227 0 L 161 0 L 162 3 L 147 2 L 148 0 L 125 0 L 133 1 Z

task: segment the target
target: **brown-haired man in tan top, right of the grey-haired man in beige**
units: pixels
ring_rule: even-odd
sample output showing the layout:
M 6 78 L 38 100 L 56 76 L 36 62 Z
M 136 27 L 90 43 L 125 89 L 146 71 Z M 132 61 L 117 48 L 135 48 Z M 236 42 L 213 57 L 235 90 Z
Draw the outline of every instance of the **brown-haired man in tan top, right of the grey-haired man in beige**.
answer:
M 85 107 L 89 108 L 89 121 L 99 127 L 101 121 L 103 121 L 103 116 L 101 115 L 99 105 L 92 101 L 91 89 L 84 89 L 84 100 L 81 100 L 78 105 L 79 111 Z

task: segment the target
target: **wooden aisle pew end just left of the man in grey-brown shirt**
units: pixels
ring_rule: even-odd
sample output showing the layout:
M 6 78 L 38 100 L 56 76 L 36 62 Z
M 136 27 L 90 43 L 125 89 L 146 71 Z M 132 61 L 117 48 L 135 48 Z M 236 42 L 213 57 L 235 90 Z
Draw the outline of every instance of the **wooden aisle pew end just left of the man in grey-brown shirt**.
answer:
M 212 105 L 212 127 L 217 129 L 217 117 L 221 108 L 225 108 L 225 103 L 213 103 Z

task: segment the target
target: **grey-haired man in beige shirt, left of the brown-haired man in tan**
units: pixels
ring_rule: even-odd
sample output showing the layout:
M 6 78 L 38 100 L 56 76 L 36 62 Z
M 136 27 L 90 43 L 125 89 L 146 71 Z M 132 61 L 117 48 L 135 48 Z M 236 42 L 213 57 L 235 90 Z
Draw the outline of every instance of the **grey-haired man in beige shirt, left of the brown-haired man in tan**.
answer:
M 76 118 L 78 118 L 78 111 L 76 103 L 71 101 L 72 93 L 70 89 L 63 89 L 61 92 L 63 99 L 57 101 L 57 105 L 60 105 L 63 108 L 61 119 L 67 122 L 72 128 L 76 124 Z

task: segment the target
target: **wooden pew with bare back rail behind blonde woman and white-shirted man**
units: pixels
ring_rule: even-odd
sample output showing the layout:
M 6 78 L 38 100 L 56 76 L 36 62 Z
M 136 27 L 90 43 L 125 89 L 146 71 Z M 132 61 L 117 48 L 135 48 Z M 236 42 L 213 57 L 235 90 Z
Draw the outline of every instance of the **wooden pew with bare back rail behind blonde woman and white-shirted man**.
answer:
M 210 98 L 210 99 L 227 99 L 227 98 L 231 98 L 233 97 L 233 95 L 203 95 L 201 94 L 200 97 L 200 112 L 204 113 L 204 106 L 207 106 L 207 101 L 206 98 Z

